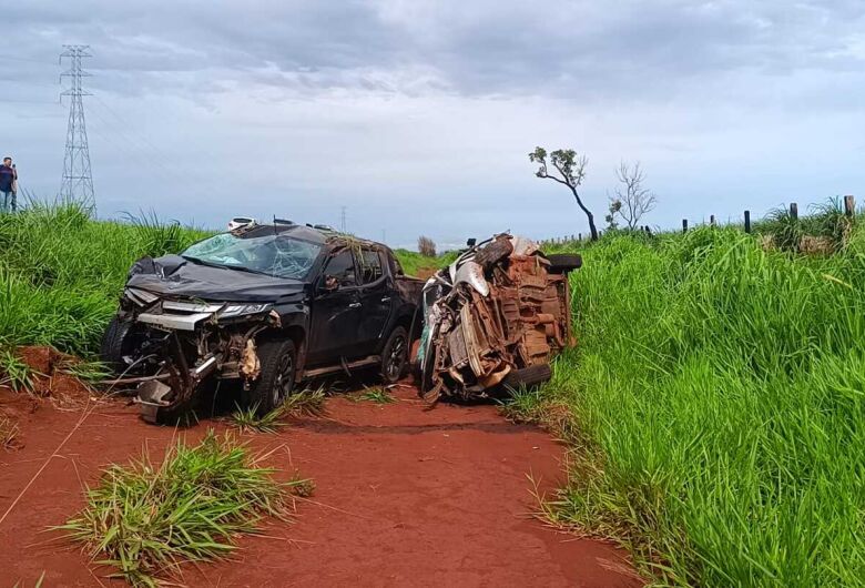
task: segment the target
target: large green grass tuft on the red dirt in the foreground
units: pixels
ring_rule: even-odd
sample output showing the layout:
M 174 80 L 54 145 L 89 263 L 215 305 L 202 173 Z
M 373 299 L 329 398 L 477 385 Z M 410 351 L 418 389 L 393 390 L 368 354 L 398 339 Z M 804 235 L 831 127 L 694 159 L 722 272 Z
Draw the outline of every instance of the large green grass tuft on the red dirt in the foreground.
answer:
M 58 527 L 133 586 L 155 587 L 176 577 L 180 564 L 227 557 L 238 534 L 255 533 L 262 517 L 292 511 L 293 489 L 278 483 L 230 435 L 210 430 L 196 446 L 180 442 L 161 464 L 144 456 L 112 465 L 86 491 L 86 506 Z

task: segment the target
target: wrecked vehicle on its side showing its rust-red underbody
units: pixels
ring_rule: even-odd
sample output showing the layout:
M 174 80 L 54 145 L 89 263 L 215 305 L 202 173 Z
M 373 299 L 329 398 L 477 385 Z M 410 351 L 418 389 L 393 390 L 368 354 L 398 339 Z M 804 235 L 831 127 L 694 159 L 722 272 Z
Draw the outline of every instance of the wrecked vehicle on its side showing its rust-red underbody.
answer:
M 549 379 L 550 359 L 573 344 L 568 272 L 581 264 L 509 234 L 470 243 L 424 286 L 420 395 L 470 399 Z

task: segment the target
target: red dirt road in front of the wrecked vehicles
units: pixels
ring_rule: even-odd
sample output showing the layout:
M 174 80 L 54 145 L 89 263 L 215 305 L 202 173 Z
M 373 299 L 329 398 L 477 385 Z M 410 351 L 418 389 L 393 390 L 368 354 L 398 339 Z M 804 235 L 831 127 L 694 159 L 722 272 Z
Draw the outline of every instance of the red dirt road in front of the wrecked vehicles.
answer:
M 634 587 L 622 551 L 545 527 L 531 474 L 550 489 L 561 479 L 562 448 L 546 433 L 513 425 L 492 406 L 423 410 L 415 391 L 376 405 L 328 401 L 328 417 L 299 419 L 277 435 L 244 436 L 276 450 L 268 463 L 316 483 L 293 525 L 244 537 L 233 561 L 189 567 L 189 586 L 584 586 Z M 0 449 L 0 517 L 79 422 L 82 412 L 42 404 L 34 413 L 0 394 L 19 414 L 23 448 Z M 160 455 L 174 435 L 200 438 L 208 426 L 175 433 L 149 426 L 134 407 L 100 405 L 0 523 L 0 584 L 99 586 L 108 568 L 45 533 L 81 508 L 82 483 L 100 468 Z

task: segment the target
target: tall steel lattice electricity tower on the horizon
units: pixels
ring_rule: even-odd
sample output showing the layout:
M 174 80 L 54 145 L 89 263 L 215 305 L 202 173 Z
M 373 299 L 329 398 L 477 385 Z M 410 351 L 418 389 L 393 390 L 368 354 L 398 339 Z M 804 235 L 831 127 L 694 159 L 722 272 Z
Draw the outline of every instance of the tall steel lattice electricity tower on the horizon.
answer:
M 93 176 L 90 172 L 90 150 L 88 149 L 88 130 L 84 124 L 84 103 L 82 97 L 90 95 L 84 91 L 82 79 L 90 75 L 81 69 L 81 60 L 92 57 L 89 45 L 67 44 L 60 53 L 69 60 L 69 69 L 60 74 L 70 79 L 70 85 L 61 92 L 62 97 L 71 97 L 69 104 L 69 128 L 67 129 L 67 154 L 63 158 L 63 181 L 60 184 L 60 196 L 93 203 Z

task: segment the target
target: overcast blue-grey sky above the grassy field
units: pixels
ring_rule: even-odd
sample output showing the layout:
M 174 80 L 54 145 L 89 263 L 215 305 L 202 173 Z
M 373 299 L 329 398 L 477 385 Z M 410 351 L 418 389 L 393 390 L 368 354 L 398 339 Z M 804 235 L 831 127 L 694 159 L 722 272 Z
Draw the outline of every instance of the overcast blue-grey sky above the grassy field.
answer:
M 865 2 L 28 0 L 6 7 L 0 151 L 53 196 L 86 43 L 99 214 L 338 225 L 391 245 L 587 232 L 533 176 L 589 158 L 602 222 L 641 161 L 674 226 L 836 194 L 865 201 Z

